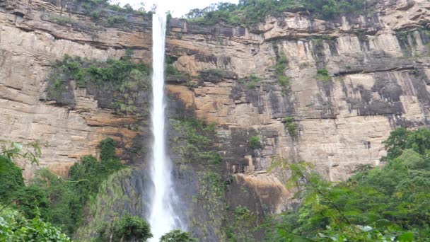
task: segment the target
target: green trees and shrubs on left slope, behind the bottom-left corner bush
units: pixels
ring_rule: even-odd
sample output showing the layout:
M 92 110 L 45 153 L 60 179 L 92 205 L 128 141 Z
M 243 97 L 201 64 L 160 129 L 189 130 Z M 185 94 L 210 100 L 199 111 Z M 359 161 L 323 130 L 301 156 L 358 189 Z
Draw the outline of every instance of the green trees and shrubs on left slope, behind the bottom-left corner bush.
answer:
M 0 156 L 1 179 L 9 180 L 0 185 L 0 194 L 5 195 L 1 197 L 1 202 L 15 207 L 29 219 L 40 217 L 71 235 L 81 224 L 83 209 L 97 194 L 100 183 L 124 167 L 114 156 L 116 144 L 110 138 L 104 139 L 100 142 L 100 157 L 103 159 L 97 161 L 93 156 L 83 156 L 81 162 L 71 167 L 66 180 L 47 169 L 41 169 L 28 185 L 24 185 L 21 169 L 13 164 L 11 158 L 30 157 L 30 161 L 36 162 L 40 148 L 32 145 L 36 154 L 23 151 L 18 143 L 12 143 L 13 149 L 3 147 Z

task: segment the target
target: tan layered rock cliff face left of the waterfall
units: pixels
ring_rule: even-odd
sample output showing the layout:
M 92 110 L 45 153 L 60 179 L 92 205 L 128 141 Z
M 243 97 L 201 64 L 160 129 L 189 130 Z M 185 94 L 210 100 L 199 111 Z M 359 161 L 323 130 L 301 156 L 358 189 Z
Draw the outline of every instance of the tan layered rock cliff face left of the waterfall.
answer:
M 117 58 L 127 47 L 151 62 L 148 19 L 130 17 L 127 26 L 103 28 L 79 11 L 66 11 L 66 4 L 0 1 L 0 137 L 46 144 L 40 165 L 62 175 L 80 156 L 97 155 L 96 146 L 106 136 L 129 148 L 137 132 L 127 127 L 136 120 L 100 108 L 83 89 L 74 90 L 73 109 L 45 101 L 52 62 L 64 54 Z M 23 166 L 27 178 L 36 168 Z

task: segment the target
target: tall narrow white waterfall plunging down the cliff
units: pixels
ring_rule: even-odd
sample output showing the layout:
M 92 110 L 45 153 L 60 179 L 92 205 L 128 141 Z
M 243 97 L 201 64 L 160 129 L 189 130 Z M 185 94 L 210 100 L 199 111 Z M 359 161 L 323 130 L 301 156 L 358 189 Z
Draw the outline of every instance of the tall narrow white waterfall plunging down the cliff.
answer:
M 151 110 L 153 146 L 151 157 L 151 210 L 149 224 L 153 238 L 158 241 L 163 234 L 173 229 L 185 229 L 182 221 L 173 209 L 175 196 L 172 184 L 172 164 L 165 149 L 165 100 L 164 100 L 164 51 L 165 51 L 166 16 L 153 14 L 153 104 Z

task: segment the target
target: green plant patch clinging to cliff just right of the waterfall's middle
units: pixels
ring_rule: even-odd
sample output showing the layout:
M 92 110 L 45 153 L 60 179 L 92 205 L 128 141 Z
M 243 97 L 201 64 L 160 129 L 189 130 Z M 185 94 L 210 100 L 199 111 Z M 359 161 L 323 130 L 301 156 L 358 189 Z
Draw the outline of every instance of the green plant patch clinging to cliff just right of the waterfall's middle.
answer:
M 176 148 L 181 158 L 187 163 L 203 162 L 210 165 L 219 165 L 222 156 L 214 151 L 215 124 L 207 124 L 201 120 L 186 118 L 172 120 L 173 128 L 180 133 Z

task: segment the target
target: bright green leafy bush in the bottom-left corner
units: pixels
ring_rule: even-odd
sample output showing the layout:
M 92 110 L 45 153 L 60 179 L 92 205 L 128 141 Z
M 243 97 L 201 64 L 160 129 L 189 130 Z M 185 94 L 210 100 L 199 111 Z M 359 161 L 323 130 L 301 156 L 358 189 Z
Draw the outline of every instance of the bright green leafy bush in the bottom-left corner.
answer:
M 20 212 L 0 206 L 0 241 L 70 241 L 62 231 L 40 219 L 26 219 Z

